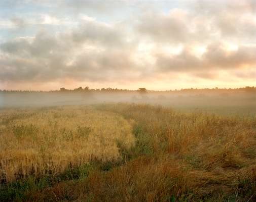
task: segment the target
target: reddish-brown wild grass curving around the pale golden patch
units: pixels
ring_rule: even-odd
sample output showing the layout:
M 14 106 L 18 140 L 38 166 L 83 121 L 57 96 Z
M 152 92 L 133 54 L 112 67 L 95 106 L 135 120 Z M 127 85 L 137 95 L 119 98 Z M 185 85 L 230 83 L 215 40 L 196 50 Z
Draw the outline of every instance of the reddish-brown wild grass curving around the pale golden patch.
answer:
M 73 108 L 75 114 L 85 113 L 84 108 L 80 107 L 81 112 L 79 108 L 78 112 Z M 134 136 L 116 138 L 118 158 L 101 161 L 96 155 L 99 160 L 91 159 L 86 165 L 77 164 L 76 168 L 67 166 L 56 176 L 48 174 L 44 175 L 45 178 L 33 178 L 29 188 L 24 188 L 27 187 L 24 181 L 23 184 L 19 182 L 23 189 L 9 183 L 9 188 L 5 186 L 2 190 L 20 191 L 11 192 L 13 195 L 3 197 L 5 200 L 8 197 L 20 201 L 256 200 L 255 117 L 225 118 L 205 113 L 177 113 L 169 108 L 132 104 L 98 105 L 89 109 L 98 113 L 97 116 L 111 115 L 122 123 L 132 124 Z M 65 110 L 68 108 L 60 111 Z M 27 115 L 27 119 L 32 116 Z M 67 120 L 72 119 L 68 117 Z M 10 124 L 7 119 L 4 123 Z M 24 122 L 16 124 L 18 131 L 26 131 L 22 133 L 30 136 L 30 130 L 42 129 L 36 124 L 31 127 L 32 123 L 28 121 L 27 127 L 22 126 Z M 120 124 L 116 122 L 114 125 L 122 128 Z M 64 137 L 65 141 L 89 138 L 93 131 L 91 125 L 83 127 L 66 127 L 61 138 Z M 2 130 L 6 130 L 5 127 Z M 84 135 L 70 139 L 70 130 Z M 123 134 L 126 130 L 121 131 Z M 128 131 L 131 128 L 126 134 L 130 134 Z M 22 137 L 16 137 L 14 132 L 12 135 L 17 139 Z M 44 186 L 39 183 L 43 179 L 48 182 Z M 27 179 L 25 182 L 27 184 Z M 0 190 L 0 195 L 4 191 Z

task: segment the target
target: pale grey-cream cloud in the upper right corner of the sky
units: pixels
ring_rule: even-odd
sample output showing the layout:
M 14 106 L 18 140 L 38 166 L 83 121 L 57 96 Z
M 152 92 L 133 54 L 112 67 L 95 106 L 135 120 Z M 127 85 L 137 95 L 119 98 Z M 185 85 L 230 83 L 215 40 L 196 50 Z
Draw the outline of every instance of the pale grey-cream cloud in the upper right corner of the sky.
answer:
M 254 4 L 240 7 L 200 1 L 196 10 L 171 9 L 168 13 L 145 12 L 139 18 L 138 32 L 158 42 L 188 43 L 212 40 L 256 42 Z M 238 4 L 239 5 L 239 4 Z M 253 6 L 252 6 L 253 5 Z M 197 12 L 196 12 L 197 11 Z

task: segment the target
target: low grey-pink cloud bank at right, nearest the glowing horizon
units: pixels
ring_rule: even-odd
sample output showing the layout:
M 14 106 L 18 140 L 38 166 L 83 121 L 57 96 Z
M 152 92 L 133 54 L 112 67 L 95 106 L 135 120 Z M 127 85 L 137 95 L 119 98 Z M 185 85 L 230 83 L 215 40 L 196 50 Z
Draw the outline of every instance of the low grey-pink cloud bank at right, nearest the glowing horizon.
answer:
M 222 43 L 212 43 L 206 47 L 201 57 L 197 57 L 190 48 L 174 56 L 166 53 L 156 54 L 156 66 L 159 71 L 209 71 L 217 69 L 239 69 L 256 66 L 256 46 L 239 46 L 236 51 L 227 51 Z M 203 74 L 202 74 L 203 75 Z

